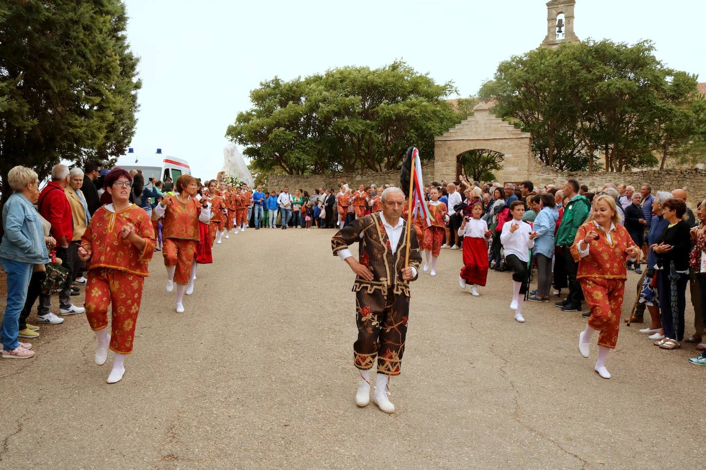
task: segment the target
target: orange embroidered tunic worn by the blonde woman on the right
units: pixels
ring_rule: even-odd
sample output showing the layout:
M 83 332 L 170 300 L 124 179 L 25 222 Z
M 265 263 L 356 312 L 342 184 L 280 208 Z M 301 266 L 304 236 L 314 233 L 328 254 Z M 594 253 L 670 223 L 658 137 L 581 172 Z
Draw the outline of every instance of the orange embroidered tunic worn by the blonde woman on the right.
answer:
M 589 254 L 583 258 L 579 254 L 578 244 L 586 237 L 589 230 L 599 234 L 598 240 L 589 243 Z M 578 228 L 571 254 L 578 262 L 576 278 L 627 279 L 626 249 L 634 247 L 635 242 L 623 225 L 617 225 L 610 231 L 611 242 L 606 233 L 593 222 L 586 222 Z

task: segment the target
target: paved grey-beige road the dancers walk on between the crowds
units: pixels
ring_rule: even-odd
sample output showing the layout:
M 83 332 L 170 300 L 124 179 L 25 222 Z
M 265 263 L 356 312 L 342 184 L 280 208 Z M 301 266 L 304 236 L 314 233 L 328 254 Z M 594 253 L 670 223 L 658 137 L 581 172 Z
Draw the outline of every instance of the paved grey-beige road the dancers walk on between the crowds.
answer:
M 606 381 L 595 345 L 578 354 L 579 314 L 530 303 L 516 323 L 508 274 L 472 297 L 448 250 L 413 286 L 397 413 L 358 409 L 353 279 L 331 235 L 224 240 L 184 314 L 156 256 L 115 385 L 83 316 L 43 326 L 37 357 L 0 361 L 0 468 L 702 466 L 706 371 L 687 364 L 691 347 L 623 327 Z

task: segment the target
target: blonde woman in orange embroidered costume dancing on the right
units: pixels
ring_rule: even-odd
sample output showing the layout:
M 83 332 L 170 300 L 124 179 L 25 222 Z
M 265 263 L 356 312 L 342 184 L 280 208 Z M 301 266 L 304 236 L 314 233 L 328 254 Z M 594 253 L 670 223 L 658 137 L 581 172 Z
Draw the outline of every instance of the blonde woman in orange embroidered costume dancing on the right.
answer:
M 588 357 L 591 336 L 600 332 L 594 369 L 603 378 L 611 378 L 605 362 L 618 341 L 626 263 L 637 260 L 638 253 L 628 230 L 620 225 L 615 199 L 607 195 L 594 199 L 591 217 L 578 228 L 571 254 L 578 261 L 576 278 L 591 307 L 586 329 L 578 335 L 578 350 Z

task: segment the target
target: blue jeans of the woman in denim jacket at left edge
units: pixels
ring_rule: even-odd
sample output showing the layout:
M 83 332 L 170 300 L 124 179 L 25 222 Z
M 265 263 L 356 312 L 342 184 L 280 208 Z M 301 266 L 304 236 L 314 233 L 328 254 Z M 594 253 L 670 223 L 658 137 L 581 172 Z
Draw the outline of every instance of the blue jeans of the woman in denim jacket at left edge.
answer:
M 27 290 L 32 278 L 32 264 L 0 258 L 3 271 L 7 273 L 7 304 L 0 328 L 3 349 L 13 350 L 20 345 L 17 340 L 22 309 L 25 308 Z

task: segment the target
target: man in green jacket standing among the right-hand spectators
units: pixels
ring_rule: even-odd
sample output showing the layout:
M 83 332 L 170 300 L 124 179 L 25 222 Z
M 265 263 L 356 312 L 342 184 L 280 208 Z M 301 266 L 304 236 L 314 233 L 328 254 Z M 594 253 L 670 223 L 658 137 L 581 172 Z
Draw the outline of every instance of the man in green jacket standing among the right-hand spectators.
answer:
M 576 237 L 576 231 L 586 221 L 591 211 L 591 203 L 588 199 L 578 194 L 579 185 L 577 180 L 567 180 L 564 183 L 564 194 L 569 198 L 564 215 L 561 218 L 561 225 L 556 232 L 556 246 L 561 247 L 561 252 L 566 260 L 566 274 L 568 276 L 569 293 L 566 299 L 556 302 L 556 307 L 561 307 L 563 311 L 580 311 L 583 301 L 581 285 L 576 280 L 578 263 L 574 261 L 570 248 Z

